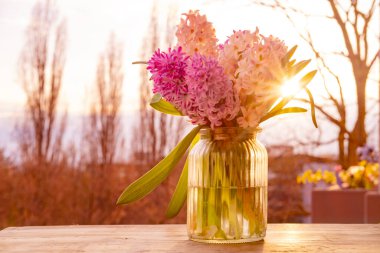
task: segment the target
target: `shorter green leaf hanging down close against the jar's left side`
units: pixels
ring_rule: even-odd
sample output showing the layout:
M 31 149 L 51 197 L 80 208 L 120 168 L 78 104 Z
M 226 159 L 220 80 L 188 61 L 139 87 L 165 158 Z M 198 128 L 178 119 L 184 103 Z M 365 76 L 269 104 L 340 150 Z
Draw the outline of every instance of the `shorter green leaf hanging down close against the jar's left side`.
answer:
M 191 143 L 189 152 L 198 141 L 199 141 L 199 134 L 194 138 L 193 142 Z M 166 210 L 166 217 L 168 218 L 173 218 L 174 216 L 176 216 L 186 201 L 188 166 L 189 166 L 189 158 L 187 157 L 185 165 L 183 166 L 181 176 L 179 177 L 177 186 L 170 200 L 168 209 Z

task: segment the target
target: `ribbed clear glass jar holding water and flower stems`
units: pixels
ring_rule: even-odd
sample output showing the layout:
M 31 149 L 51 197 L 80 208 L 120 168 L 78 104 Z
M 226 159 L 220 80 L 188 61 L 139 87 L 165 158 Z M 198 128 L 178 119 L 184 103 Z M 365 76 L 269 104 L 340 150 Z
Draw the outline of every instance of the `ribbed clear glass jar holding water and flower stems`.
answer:
M 257 129 L 201 129 L 189 154 L 187 230 L 191 240 L 240 243 L 264 238 L 268 155 Z

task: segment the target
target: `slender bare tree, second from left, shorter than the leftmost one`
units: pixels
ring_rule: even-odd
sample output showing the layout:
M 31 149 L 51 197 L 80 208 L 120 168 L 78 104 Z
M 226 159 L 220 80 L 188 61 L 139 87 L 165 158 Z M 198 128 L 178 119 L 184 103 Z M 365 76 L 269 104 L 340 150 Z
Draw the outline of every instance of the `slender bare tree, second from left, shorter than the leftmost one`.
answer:
M 102 167 L 113 164 L 123 143 L 120 105 L 123 85 L 123 48 L 110 35 L 107 49 L 99 57 L 96 73 L 96 98 L 91 106 L 89 139 L 92 162 Z

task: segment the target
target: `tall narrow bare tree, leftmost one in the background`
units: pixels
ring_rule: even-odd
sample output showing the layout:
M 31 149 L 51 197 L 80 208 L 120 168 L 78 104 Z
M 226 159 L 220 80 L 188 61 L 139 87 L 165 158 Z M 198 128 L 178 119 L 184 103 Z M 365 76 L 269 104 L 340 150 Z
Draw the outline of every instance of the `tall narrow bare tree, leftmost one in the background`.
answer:
M 23 155 L 38 163 L 59 158 L 65 133 L 65 116 L 57 120 L 66 53 L 66 26 L 57 23 L 51 1 L 38 2 L 26 31 L 19 74 L 26 95 L 26 119 L 19 129 Z

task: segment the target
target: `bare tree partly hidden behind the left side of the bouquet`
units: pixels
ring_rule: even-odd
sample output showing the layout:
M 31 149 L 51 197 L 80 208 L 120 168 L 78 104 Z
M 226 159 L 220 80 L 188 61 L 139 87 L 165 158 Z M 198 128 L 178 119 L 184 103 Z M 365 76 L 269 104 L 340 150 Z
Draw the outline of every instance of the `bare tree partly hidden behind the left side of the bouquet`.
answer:
M 161 29 L 158 22 L 157 6 L 151 13 L 150 30 L 142 47 L 142 59 L 148 59 L 157 48 L 170 47 L 173 43 L 175 26 L 173 25 L 174 12 L 170 12 L 166 20 L 166 28 Z M 165 30 L 166 36 L 160 37 L 159 31 Z M 160 43 L 161 42 L 161 43 Z M 140 108 L 138 122 L 134 129 L 133 154 L 134 160 L 144 160 L 148 166 L 154 165 L 163 158 L 169 148 L 174 147 L 181 136 L 184 126 L 183 119 L 158 113 L 149 107 L 152 97 L 152 84 L 146 66 L 140 71 Z

